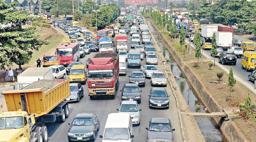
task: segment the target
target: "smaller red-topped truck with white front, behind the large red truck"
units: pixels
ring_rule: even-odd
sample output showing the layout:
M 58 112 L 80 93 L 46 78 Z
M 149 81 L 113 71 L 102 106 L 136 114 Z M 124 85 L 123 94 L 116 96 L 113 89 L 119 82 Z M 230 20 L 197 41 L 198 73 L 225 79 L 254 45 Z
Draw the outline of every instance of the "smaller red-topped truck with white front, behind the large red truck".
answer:
M 118 52 L 119 50 L 127 51 L 127 35 L 126 34 L 118 34 L 115 35 L 115 50 Z

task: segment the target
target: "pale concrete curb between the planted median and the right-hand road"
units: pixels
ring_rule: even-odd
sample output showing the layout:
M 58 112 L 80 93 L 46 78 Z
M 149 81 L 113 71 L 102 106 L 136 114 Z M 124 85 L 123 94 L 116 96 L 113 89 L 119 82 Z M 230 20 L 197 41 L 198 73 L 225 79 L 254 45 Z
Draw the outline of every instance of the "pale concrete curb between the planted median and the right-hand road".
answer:
M 186 43 L 188 43 L 188 40 L 185 40 Z M 191 44 L 191 47 L 195 48 L 195 46 L 193 44 Z M 210 59 L 210 61 L 214 62 L 213 57 L 207 55 L 204 51 L 203 51 L 203 56 L 205 56 L 207 59 Z M 221 64 L 216 64 L 219 68 L 221 68 L 222 70 L 224 70 L 224 72 L 226 72 L 227 74 L 229 74 L 229 69 L 225 68 L 223 65 Z M 254 90 L 254 87 L 251 87 L 250 83 L 243 81 L 240 77 L 238 77 L 236 74 L 234 74 L 234 78 L 242 83 L 242 85 L 246 86 L 247 89 L 249 89 L 251 91 L 251 93 L 256 94 L 256 90 Z

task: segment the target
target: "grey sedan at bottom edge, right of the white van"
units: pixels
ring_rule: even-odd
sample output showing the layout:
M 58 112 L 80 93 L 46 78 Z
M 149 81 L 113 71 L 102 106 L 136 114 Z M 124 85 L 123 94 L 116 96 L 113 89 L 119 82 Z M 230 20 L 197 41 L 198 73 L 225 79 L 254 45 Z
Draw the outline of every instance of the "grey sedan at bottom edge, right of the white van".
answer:
M 152 118 L 147 131 L 147 141 L 174 141 L 174 128 L 168 118 Z

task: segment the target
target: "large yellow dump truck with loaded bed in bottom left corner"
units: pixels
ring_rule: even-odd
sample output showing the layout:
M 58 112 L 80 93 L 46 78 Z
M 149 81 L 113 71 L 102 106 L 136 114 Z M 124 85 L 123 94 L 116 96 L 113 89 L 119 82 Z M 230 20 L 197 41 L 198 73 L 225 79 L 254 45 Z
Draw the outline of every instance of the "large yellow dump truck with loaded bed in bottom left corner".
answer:
M 7 112 L 0 114 L 0 141 L 48 141 L 45 123 L 69 116 L 69 80 L 39 80 L 21 90 L 2 91 Z

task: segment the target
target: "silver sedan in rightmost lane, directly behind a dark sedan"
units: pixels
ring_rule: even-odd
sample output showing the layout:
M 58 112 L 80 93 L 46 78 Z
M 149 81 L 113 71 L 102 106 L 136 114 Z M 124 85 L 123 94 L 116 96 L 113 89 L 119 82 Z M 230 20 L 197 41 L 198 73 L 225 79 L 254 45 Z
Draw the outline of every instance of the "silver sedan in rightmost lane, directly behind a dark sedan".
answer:
M 151 85 L 166 86 L 167 80 L 163 72 L 154 72 L 150 79 Z

